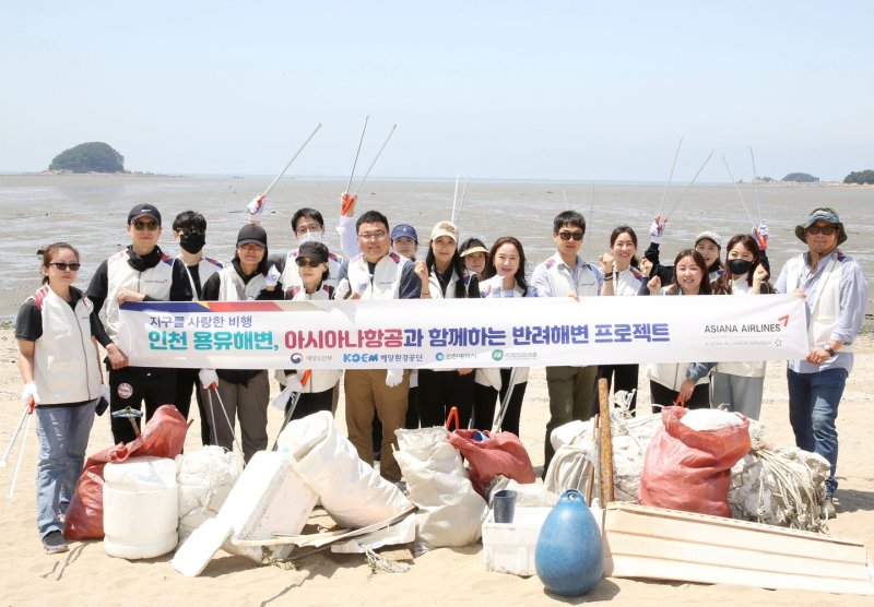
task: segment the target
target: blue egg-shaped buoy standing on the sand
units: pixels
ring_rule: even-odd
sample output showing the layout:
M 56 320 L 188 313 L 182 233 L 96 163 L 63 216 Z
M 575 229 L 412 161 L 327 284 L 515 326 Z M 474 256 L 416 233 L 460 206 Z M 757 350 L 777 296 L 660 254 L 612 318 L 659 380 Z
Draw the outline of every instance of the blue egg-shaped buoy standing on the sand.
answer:
M 534 568 L 546 590 L 562 596 L 583 595 L 601 580 L 601 529 L 576 489 L 565 491 L 543 522 Z

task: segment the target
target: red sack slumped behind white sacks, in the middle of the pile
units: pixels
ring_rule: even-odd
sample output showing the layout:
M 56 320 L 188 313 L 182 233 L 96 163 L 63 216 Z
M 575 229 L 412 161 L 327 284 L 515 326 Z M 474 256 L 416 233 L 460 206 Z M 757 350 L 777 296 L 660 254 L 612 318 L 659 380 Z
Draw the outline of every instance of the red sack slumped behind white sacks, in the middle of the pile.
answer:
M 486 440 L 475 440 L 475 436 Z M 517 483 L 534 483 L 534 467 L 522 441 L 512 432 L 489 433 L 487 430 L 456 430 L 446 440 L 471 464 L 473 488 L 485 497 L 485 488 L 497 475 Z

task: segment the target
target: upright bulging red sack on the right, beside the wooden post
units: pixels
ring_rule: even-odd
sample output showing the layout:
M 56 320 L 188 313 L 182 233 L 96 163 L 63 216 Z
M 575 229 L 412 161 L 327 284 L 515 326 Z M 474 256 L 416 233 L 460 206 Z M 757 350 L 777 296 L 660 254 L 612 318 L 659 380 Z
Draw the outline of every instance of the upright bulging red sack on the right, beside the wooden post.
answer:
M 749 452 L 749 419 L 741 426 L 693 430 L 685 407 L 664 407 L 662 427 L 643 460 L 637 499 L 643 505 L 731 517 L 731 467 Z

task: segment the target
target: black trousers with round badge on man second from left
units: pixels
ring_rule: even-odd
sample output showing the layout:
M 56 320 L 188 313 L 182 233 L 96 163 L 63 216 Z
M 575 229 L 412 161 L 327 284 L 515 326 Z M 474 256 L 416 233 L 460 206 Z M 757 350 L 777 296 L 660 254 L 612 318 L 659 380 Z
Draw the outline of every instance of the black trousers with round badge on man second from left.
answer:
M 125 367 L 109 370 L 109 410 L 121 410 L 125 407 L 142 410 L 145 402 L 145 417 L 137 421 L 142 431 L 144 422 L 162 405 L 176 402 L 176 369 L 157 369 L 147 367 Z M 113 428 L 113 440 L 116 443 L 130 442 L 137 438 L 130 420 L 123 417 L 109 418 Z

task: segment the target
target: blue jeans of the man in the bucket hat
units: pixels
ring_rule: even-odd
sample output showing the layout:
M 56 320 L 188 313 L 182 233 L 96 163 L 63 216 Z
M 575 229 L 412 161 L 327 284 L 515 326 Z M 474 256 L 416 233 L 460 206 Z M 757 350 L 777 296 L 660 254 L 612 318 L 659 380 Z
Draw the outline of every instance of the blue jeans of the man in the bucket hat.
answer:
M 838 488 L 838 404 L 847 384 L 847 369 L 826 369 L 816 373 L 796 373 L 787 369 L 789 384 L 789 421 L 795 432 L 795 444 L 813 451 L 831 464 L 826 493 Z

